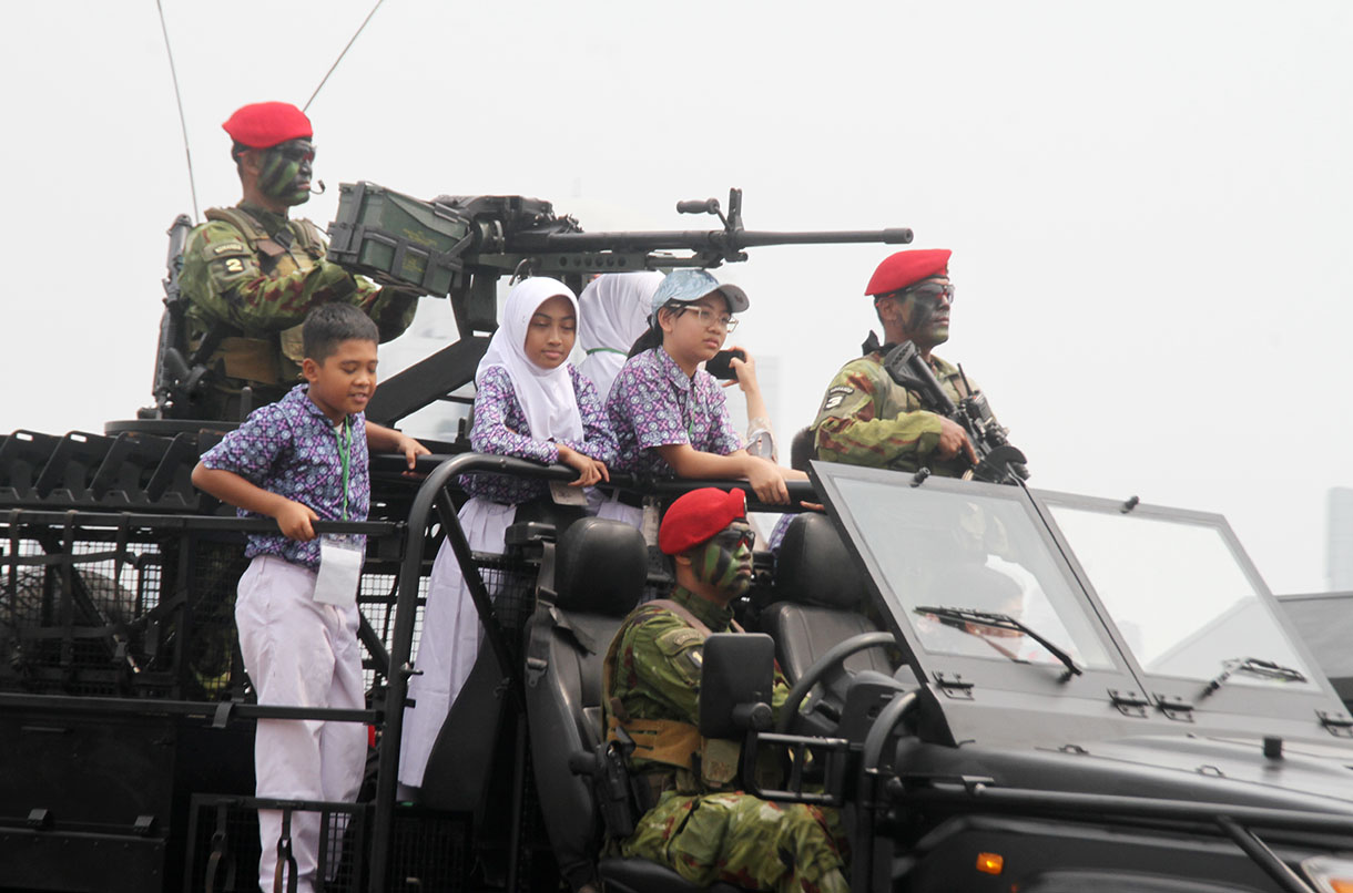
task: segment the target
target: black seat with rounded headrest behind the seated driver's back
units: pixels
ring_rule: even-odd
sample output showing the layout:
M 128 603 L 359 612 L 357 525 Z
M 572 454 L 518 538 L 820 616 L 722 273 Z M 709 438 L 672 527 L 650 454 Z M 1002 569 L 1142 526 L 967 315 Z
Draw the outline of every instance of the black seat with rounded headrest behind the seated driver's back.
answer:
M 526 716 L 540 808 L 560 873 L 575 890 L 691 893 L 666 866 L 602 859 L 601 820 L 591 782 L 568 766 L 602 740 L 602 663 L 648 574 L 643 535 L 629 524 L 587 517 L 555 551 L 555 597 L 537 601 L 526 643 Z M 548 593 L 547 593 L 548 594 Z M 598 877 L 599 875 L 599 877 Z M 735 888 L 716 886 L 716 890 Z

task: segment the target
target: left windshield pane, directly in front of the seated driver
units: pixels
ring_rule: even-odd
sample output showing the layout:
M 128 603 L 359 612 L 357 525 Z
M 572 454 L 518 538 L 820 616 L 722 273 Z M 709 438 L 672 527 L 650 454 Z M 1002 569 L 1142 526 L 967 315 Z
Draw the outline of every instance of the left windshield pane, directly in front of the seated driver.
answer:
M 1078 666 L 1112 666 L 1084 596 L 1073 594 L 1024 504 L 847 477 L 836 484 L 861 547 L 881 569 L 889 609 L 927 651 L 1061 667 L 1042 638 Z M 1004 615 L 1038 636 L 963 612 Z

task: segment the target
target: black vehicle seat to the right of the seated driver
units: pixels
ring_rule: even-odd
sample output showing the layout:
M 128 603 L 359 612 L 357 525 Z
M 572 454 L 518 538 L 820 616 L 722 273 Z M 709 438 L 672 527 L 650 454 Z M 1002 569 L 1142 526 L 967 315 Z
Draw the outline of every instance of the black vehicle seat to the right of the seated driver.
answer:
M 775 639 L 775 657 L 790 685 L 832 646 L 852 635 L 878 632 L 863 613 L 865 586 L 831 519 L 805 512 L 790 521 L 775 558 L 775 601 L 759 619 L 760 630 Z M 852 673 L 893 674 L 884 647 L 852 654 L 844 666 Z

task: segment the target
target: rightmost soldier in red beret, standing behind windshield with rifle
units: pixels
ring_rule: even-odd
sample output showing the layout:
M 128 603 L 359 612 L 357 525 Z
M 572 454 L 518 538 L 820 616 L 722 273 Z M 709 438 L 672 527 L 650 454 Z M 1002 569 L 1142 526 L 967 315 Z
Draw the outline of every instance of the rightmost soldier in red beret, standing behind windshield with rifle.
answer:
M 846 363 L 827 386 L 813 422 L 819 458 L 904 471 L 927 466 L 946 477 L 959 477 L 977 462 L 967 432 L 923 409 L 921 396 L 884 369 L 888 351 L 909 340 L 954 403 L 969 396 L 969 386 L 977 392 L 957 366 L 931 353 L 948 340 L 950 254 L 948 249 L 898 251 L 874 270 L 865 293 L 874 299 L 886 343 Z

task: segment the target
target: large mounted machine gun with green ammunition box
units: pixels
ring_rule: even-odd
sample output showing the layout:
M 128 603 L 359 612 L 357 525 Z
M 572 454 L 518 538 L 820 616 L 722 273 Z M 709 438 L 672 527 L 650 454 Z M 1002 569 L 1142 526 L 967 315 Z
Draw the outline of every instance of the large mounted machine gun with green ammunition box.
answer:
M 710 213 L 720 230 L 584 232 L 548 201 L 522 196 L 438 196 L 421 201 L 371 182 L 341 184 L 329 224 L 329 259 L 377 282 L 449 296 L 460 340 L 382 382 L 367 417 L 382 424 L 442 399 L 474 378 L 497 323 L 502 276 L 552 276 L 582 290 L 597 273 L 716 267 L 764 245 L 882 242 L 905 245 L 908 228 L 764 232 L 743 226 L 743 193 L 678 201 L 679 213 Z M 683 251 L 685 254 L 672 254 Z

